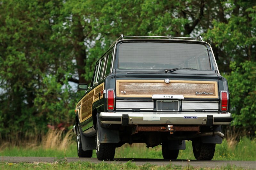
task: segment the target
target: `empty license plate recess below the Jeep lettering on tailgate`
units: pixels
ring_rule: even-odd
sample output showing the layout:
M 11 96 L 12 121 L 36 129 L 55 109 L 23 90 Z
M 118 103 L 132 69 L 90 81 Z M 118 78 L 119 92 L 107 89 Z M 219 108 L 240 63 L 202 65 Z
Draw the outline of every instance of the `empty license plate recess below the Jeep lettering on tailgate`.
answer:
M 156 100 L 156 111 L 179 111 L 179 100 Z

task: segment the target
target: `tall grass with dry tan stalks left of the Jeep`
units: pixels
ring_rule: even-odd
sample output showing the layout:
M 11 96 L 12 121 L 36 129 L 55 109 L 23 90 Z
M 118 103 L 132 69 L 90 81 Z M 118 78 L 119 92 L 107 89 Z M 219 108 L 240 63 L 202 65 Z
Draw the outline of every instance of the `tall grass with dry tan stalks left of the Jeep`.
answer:
M 50 129 L 45 135 L 42 135 L 41 142 L 38 139 L 31 138 L 30 141 L 24 141 L 20 145 L 14 145 L 10 142 L 3 142 L 0 145 L 0 156 L 39 156 L 39 157 L 76 157 L 76 144 L 72 129 L 68 132 L 63 130 Z

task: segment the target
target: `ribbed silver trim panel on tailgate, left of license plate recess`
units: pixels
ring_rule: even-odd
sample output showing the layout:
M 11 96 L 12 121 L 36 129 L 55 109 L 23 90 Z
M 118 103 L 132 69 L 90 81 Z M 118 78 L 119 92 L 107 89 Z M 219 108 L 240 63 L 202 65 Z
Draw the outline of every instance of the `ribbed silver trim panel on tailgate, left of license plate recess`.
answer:
M 154 109 L 154 102 L 116 101 L 116 109 Z

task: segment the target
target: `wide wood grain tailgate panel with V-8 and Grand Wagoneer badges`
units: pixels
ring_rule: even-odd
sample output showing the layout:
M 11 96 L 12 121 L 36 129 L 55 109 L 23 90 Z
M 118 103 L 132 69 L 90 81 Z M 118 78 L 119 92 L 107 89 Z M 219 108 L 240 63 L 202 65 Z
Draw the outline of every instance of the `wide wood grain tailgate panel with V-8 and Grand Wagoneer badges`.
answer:
M 199 93 L 196 95 L 196 92 Z M 204 92 L 212 94 L 206 95 Z M 117 80 L 116 93 L 117 97 L 152 97 L 154 94 L 170 94 L 183 95 L 185 98 L 218 98 L 218 87 L 216 81 L 171 80 L 166 84 L 164 80 Z

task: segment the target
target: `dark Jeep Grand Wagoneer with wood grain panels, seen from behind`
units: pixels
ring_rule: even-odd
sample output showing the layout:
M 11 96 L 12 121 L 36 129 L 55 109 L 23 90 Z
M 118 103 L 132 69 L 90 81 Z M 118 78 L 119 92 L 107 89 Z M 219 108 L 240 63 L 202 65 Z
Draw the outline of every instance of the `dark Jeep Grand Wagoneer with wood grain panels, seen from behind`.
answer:
M 112 160 L 125 143 L 162 145 L 177 159 L 192 140 L 198 160 L 211 160 L 229 124 L 227 80 L 201 37 L 121 35 L 96 62 L 76 105 L 77 153 Z

